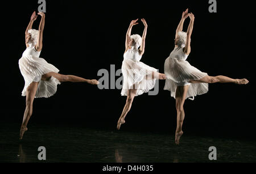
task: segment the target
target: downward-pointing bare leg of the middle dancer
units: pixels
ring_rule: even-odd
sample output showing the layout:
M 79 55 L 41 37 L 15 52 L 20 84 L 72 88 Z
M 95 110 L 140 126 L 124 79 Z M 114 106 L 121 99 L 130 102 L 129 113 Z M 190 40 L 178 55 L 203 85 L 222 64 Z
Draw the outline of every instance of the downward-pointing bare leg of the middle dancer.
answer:
M 123 108 L 123 112 L 117 123 L 118 130 L 120 129 L 121 125 L 125 123 L 125 117 L 131 109 L 131 104 L 133 103 L 133 99 L 136 95 L 136 92 L 137 92 L 137 89 L 135 88 L 135 86 L 134 86 L 134 89 L 128 90 L 127 92 L 126 104 L 125 104 L 125 107 Z

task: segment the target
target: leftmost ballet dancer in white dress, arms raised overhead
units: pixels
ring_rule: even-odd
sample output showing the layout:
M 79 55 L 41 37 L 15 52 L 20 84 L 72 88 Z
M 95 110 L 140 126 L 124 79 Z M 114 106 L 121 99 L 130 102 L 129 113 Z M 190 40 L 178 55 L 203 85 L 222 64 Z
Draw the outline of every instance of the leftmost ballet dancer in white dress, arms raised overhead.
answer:
M 39 30 L 32 29 L 32 25 L 38 15 L 41 16 Z M 59 70 L 47 63 L 43 58 L 39 58 L 43 46 L 43 30 L 45 14 L 34 11 L 31 15 L 30 23 L 25 32 L 26 47 L 22 58 L 19 59 L 19 69 L 24 78 L 25 86 L 22 96 L 26 96 L 26 109 L 23 116 L 22 126 L 20 128 L 19 139 L 27 131 L 27 123 L 32 115 L 32 105 L 36 97 L 50 97 L 57 91 L 57 84 L 60 82 L 86 82 L 89 84 L 98 84 L 98 81 L 88 80 L 75 75 L 59 74 Z

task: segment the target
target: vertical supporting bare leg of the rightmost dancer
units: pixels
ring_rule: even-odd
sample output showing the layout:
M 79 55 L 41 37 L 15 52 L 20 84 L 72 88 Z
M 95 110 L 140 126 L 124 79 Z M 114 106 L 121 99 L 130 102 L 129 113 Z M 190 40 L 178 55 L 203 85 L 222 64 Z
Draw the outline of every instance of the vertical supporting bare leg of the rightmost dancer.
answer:
M 187 86 L 178 86 L 176 88 L 176 110 L 177 110 L 177 128 L 175 133 L 175 143 L 176 145 L 179 145 L 180 143 L 180 137 L 183 135 L 182 131 L 182 125 L 185 118 L 185 112 L 184 112 L 184 102 L 187 97 L 189 85 Z

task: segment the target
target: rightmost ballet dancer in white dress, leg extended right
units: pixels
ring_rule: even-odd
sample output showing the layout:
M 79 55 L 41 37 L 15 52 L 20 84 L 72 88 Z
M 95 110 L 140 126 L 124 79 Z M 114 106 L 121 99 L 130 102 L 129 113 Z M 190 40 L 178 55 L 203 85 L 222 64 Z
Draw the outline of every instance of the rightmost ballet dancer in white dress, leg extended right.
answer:
M 189 16 L 190 23 L 187 33 L 183 32 L 184 20 Z M 182 14 L 179 25 L 176 29 L 175 48 L 164 62 L 164 73 L 166 74 L 166 84 L 164 90 L 171 91 L 171 96 L 176 99 L 177 128 L 175 133 L 175 143 L 179 145 L 180 137 L 183 135 L 181 130 L 185 112 L 185 99 L 194 99 L 194 96 L 208 92 L 208 83 L 236 83 L 247 84 L 247 79 L 232 79 L 223 75 L 216 77 L 203 73 L 196 67 L 191 66 L 187 57 L 191 52 L 190 40 L 193 30 L 195 16 L 188 13 L 188 9 Z

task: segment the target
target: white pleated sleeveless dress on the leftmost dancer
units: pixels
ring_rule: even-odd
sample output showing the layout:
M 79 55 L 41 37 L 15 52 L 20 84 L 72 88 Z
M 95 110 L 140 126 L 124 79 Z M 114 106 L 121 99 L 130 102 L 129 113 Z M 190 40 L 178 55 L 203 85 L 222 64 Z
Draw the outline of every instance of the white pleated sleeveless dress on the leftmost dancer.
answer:
M 59 70 L 43 58 L 39 58 L 40 52 L 35 49 L 34 42 L 29 42 L 28 45 L 19 59 L 20 73 L 25 81 L 22 96 L 27 95 L 27 87 L 30 86 L 30 83 L 39 82 L 35 98 L 50 97 L 56 93 L 57 84 L 60 84 L 60 82 L 54 77 L 51 77 L 48 81 L 41 80 L 41 77 L 49 72 L 58 73 Z

